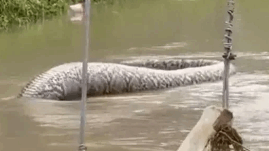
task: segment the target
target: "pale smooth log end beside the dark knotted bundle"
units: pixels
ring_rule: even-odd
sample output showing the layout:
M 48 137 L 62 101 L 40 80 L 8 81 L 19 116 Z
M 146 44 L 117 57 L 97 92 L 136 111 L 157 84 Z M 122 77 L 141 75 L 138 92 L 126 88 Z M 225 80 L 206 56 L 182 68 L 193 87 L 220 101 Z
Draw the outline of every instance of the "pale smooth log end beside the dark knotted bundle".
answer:
M 222 109 L 216 106 L 206 107 L 200 120 L 196 123 L 177 151 L 203 151 L 209 137 L 216 131 L 213 123 L 219 117 Z

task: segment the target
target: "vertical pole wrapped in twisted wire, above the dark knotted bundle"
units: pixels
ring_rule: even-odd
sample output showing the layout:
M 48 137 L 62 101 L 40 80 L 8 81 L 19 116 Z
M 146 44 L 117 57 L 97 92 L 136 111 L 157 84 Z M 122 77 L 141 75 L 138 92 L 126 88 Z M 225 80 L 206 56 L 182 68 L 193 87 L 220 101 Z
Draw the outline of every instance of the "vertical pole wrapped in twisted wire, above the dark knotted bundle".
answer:
M 232 20 L 233 20 L 233 13 L 234 13 L 234 4 L 233 0 L 228 0 L 228 21 L 225 23 L 227 27 L 225 28 L 225 43 L 224 43 L 224 50 L 225 53 L 223 54 L 224 58 L 224 73 L 223 73 L 223 90 L 222 90 L 222 108 L 229 108 L 229 70 L 230 70 L 230 61 L 235 59 L 236 55 L 231 53 L 232 50 Z

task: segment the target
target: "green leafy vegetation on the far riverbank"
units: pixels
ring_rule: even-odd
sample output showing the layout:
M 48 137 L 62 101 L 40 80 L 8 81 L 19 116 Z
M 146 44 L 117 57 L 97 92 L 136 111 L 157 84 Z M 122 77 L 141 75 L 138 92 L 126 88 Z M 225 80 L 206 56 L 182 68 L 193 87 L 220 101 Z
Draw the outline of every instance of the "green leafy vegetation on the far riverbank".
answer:
M 67 12 L 79 0 L 0 0 L 0 31 L 25 28 Z M 91 0 L 92 4 L 113 4 L 114 0 Z

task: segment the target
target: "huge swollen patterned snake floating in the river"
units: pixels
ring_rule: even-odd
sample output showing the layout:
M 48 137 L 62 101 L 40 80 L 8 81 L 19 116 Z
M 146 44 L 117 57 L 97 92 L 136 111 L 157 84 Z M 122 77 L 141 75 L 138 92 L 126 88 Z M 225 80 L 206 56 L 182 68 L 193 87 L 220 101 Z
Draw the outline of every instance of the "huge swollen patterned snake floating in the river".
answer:
M 132 60 L 88 63 L 87 95 L 119 94 L 214 82 L 223 77 L 216 60 Z M 230 64 L 230 74 L 235 66 Z M 18 97 L 74 100 L 81 97 L 82 63 L 65 63 L 34 77 Z

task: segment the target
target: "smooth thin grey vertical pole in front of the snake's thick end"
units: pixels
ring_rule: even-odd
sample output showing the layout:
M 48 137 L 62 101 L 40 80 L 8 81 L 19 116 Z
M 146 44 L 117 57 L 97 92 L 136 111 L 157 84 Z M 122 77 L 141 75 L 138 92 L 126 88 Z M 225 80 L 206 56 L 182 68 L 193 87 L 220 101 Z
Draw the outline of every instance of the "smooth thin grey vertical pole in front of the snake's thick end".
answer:
M 85 49 L 83 53 L 83 65 L 82 65 L 82 96 L 81 96 L 81 116 L 80 116 L 80 135 L 79 135 L 79 151 L 86 151 L 87 148 L 84 145 L 85 139 L 85 123 L 86 123 L 86 99 L 87 99 L 87 83 L 88 83 L 88 73 L 87 73 L 87 63 L 88 63 L 88 51 L 90 44 L 90 8 L 91 1 L 84 1 L 84 15 L 83 22 L 85 25 Z

